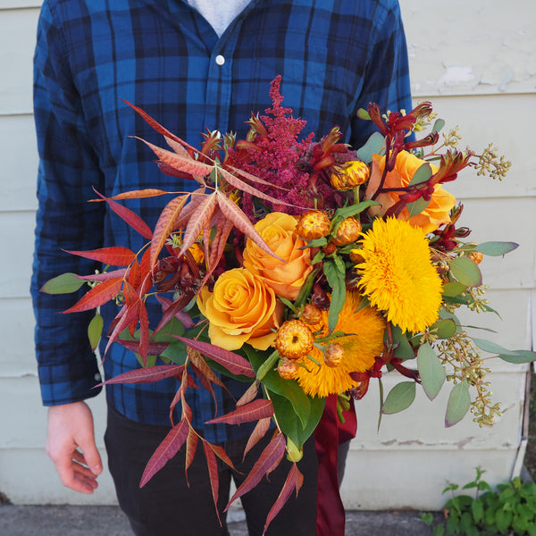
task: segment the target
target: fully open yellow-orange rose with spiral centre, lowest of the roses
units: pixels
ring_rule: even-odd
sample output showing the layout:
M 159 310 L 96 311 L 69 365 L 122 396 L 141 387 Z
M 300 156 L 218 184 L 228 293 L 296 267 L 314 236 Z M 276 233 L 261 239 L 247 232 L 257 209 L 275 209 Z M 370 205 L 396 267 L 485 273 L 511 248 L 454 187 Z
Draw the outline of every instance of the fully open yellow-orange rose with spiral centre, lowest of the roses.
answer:
M 223 272 L 213 292 L 204 287 L 197 306 L 210 322 L 211 342 L 226 350 L 272 346 L 284 314 L 273 290 L 244 268 Z

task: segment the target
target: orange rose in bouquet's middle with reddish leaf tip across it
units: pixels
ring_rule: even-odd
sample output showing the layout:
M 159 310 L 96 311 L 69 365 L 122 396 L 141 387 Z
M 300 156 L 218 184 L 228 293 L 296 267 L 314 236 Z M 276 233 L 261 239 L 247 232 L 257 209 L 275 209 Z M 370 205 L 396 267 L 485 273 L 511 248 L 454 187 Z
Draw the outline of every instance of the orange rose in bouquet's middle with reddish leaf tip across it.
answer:
M 297 221 L 289 214 L 271 213 L 255 224 L 264 242 L 286 262 L 266 253 L 251 239 L 244 249 L 244 266 L 262 279 L 278 296 L 294 300 L 306 281 L 311 266 L 311 250 L 295 232 Z

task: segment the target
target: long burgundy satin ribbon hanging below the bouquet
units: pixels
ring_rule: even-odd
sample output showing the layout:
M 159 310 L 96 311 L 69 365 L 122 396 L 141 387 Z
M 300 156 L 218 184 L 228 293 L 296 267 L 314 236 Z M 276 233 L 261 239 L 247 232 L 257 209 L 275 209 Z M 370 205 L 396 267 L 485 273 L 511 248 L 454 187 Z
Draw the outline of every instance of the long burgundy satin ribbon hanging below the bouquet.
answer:
M 344 536 L 345 514 L 339 493 L 337 458 L 339 443 L 356 437 L 356 411 L 353 399 L 350 400 L 350 409 L 343 414 L 343 424 L 337 416 L 337 395 L 326 398 L 322 418 L 314 431 L 318 457 L 316 536 Z

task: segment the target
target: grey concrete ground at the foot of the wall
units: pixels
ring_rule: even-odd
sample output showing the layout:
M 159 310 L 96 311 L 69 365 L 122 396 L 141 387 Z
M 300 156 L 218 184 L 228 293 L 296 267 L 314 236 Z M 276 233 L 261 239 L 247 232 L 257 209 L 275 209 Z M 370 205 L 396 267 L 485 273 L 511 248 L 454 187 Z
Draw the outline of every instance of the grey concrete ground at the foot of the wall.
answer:
M 240 512 L 234 517 L 240 518 Z M 233 521 L 229 526 L 230 536 L 247 536 L 245 521 Z M 0 535 L 132 536 L 132 532 L 119 507 L 4 505 L 0 506 Z M 345 536 L 431 536 L 431 528 L 416 510 L 349 511 Z

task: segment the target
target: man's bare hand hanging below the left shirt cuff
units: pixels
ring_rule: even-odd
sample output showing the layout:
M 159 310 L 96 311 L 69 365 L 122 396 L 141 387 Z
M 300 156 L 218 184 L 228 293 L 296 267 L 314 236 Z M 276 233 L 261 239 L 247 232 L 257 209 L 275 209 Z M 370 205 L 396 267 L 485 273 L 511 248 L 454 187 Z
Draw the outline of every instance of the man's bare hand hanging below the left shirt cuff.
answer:
M 46 454 L 54 462 L 64 486 L 80 493 L 93 493 L 103 465 L 96 449 L 93 415 L 85 402 L 48 409 Z

